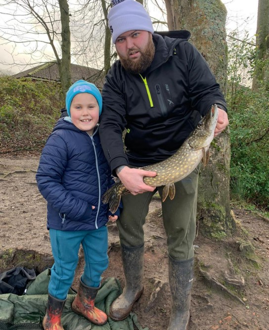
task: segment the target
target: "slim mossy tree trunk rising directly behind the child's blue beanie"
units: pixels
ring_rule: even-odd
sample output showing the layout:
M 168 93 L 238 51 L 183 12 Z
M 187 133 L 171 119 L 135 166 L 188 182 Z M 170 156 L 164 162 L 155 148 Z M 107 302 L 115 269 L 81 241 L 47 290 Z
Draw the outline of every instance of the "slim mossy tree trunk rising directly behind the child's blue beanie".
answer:
M 59 73 L 62 86 L 62 94 L 65 98 L 66 92 L 71 86 L 71 42 L 70 42 L 70 24 L 69 24 L 69 6 L 67 0 L 59 0 L 61 13 L 61 37 L 62 37 L 62 59 L 59 63 Z

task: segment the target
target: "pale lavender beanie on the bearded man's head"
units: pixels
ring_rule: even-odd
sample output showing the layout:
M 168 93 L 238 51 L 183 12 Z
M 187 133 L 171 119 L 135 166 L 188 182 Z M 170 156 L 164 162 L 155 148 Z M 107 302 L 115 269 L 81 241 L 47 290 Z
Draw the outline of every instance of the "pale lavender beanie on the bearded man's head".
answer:
M 135 0 L 111 0 L 111 3 L 113 7 L 107 17 L 113 44 L 122 33 L 127 31 L 154 32 L 149 14 L 141 3 Z

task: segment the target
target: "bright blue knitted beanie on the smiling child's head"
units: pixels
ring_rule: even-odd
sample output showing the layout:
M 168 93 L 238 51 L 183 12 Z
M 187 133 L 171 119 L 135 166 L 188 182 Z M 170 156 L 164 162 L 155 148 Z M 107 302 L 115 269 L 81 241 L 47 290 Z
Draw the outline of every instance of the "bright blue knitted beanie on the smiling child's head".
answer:
M 68 116 L 70 117 L 70 105 L 72 99 L 74 98 L 75 95 L 80 93 L 89 93 L 96 98 L 99 105 L 99 115 L 100 115 L 102 112 L 103 102 L 102 102 L 101 93 L 99 92 L 98 88 L 94 84 L 88 83 L 88 81 L 78 80 L 69 88 L 69 90 L 66 93 L 65 106 Z

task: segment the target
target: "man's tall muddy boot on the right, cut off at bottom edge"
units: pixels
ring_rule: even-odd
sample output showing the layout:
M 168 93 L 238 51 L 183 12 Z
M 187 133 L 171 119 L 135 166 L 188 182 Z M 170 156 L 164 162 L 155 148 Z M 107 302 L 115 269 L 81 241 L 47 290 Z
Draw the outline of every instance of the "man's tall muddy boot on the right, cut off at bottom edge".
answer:
M 169 256 L 169 283 L 172 296 L 172 309 L 167 330 L 188 329 L 192 281 L 193 258 L 186 261 L 178 261 Z

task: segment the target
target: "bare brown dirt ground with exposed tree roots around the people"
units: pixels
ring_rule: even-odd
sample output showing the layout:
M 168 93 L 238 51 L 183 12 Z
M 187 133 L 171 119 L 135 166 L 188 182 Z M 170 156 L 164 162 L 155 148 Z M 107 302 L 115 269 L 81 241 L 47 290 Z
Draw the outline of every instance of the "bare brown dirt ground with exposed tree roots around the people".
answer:
M 40 271 L 53 262 L 46 203 L 35 182 L 38 162 L 39 156 L 0 157 L 0 255 L 13 249 L 11 264 L 0 258 L 0 272 L 27 266 L 29 258 Z M 240 208 L 233 208 L 233 214 L 238 229 L 232 237 L 217 241 L 198 231 L 195 239 L 190 330 L 269 330 L 269 222 Z M 108 223 L 108 228 L 110 264 L 103 277 L 116 277 L 124 285 L 117 227 Z M 168 256 L 157 198 L 144 229 L 144 293 L 134 312 L 143 327 L 165 330 L 170 317 Z M 82 271 L 81 254 L 74 288 Z

